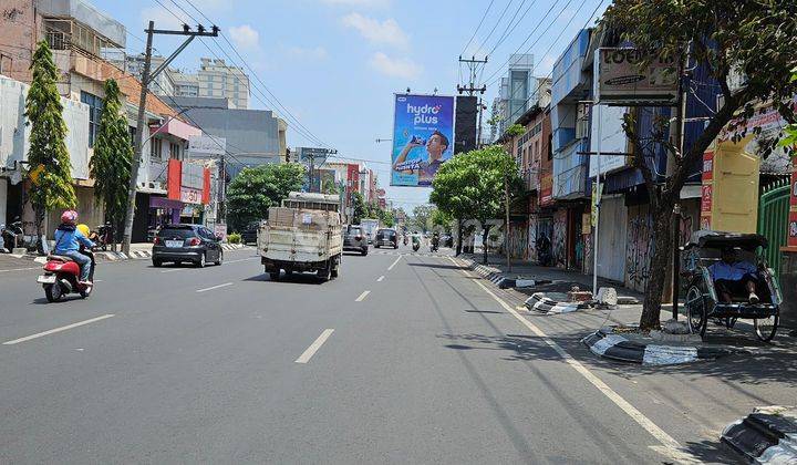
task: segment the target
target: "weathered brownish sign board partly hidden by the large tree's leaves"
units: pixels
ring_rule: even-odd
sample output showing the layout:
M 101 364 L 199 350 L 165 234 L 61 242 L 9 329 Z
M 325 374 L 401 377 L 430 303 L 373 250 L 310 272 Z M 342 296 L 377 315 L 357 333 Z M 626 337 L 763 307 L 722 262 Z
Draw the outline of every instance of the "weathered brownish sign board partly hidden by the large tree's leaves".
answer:
M 596 100 L 621 105 L 673 105 L 679 92 L 677 61 L 655 56 L 645 66 L 640 66 L 643 58 L 635 49 L 596 50 Z

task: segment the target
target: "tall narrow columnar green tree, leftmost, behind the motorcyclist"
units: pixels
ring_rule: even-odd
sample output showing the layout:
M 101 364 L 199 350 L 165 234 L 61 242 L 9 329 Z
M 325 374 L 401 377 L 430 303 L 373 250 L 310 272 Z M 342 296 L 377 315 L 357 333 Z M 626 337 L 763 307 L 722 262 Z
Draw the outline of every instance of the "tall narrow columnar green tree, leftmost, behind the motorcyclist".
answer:
M 66 123 L 55 83 L 59 70 L 46 41 L 37 45 L 31 61 L 33 80 L 25 97 L 27 124 L 31 126 L 28 163 L 31 180 L 30 202 L 35 213 L 37 235 L 44 236 L 42 224 L 48 210 L 74 208 L 72 169 L 66 151 Z M 41 250 L 41 242 L 39 245 Z

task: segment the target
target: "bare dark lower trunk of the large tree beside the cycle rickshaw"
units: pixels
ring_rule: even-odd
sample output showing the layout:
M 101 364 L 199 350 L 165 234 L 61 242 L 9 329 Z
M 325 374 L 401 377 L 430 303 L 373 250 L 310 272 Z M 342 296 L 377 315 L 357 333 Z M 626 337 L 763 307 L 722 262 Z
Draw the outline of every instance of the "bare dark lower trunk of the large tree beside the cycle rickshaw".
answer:
M 653 256 L 650 264 L 650 277 L 645 285 L 640 329 L 652 330 L 660 328 L 661 302 L 664 283 L 669 278 L 666 270 L 672 252 L 672 206 L 663 205 L 653 211 Z

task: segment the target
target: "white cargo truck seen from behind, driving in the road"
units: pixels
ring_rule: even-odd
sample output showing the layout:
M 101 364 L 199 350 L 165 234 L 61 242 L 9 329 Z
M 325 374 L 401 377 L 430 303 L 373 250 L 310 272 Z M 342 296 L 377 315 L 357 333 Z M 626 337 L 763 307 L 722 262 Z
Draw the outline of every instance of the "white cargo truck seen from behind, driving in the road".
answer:
M 281 207 L 269 208 L 260 226 L 260 262 L 271 280 L 294 271 L 314 271 L 321 280 L 338 277 L 343 236 L 337 195 L 290 193 Z

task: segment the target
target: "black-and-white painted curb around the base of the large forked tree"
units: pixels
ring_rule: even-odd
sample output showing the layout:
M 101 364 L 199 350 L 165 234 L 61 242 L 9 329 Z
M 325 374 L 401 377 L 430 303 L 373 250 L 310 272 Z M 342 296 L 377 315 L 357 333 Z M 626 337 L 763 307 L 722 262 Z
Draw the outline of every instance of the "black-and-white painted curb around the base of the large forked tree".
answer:
M 743 353 L 739 350 L 724 348 L 642 343 L 631 341 L 622 334 L 613 333 L 611 328 L 600 329 L 583 338 L 581 342 L 596 355 L 653 366 L 692 363 L 700 360 L 714 360 L 734 353 Z

